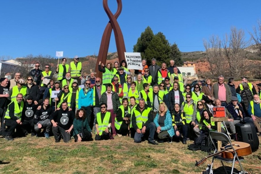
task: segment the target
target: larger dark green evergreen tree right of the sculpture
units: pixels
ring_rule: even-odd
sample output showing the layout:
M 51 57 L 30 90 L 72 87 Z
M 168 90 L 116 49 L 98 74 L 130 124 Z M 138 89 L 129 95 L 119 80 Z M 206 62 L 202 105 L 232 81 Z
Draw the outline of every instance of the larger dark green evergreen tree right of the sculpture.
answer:
M 163 33 L 158 32 L 156 35 L 150 27 L 147 27 L 138 38 L 136 45 L 133 46 L 134 52 L 140 52 L 142 59 L 147 60 L 147 64 L 151 63 L 151 59 L 155 58 L 158 64 L 170 60 L 170 44 L 166 40 Z

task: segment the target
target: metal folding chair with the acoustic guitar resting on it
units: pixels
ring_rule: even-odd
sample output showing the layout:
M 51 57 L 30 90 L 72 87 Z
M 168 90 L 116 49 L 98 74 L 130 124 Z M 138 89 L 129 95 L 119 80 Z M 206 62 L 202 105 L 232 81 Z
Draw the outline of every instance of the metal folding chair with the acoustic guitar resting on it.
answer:
M 216 159 L 216 160 L 220 160 L 220 161 L 221 161 L 221 163 L 222 163 L 222 165 L 223 165 L 223 167 L 224 167 L 224 170 L 226 171 L 226 174 L 228 174 L 228 173 L 227 173 L 227 170 L 226 170 L 226 168 L 225 168 L 223 162 L 233 163 L 233 164 L 232 164 L 232 170 L 231 170 L 231 174 L 232 174 L 232 173 L 235 173 L 235 172 L 233 172 L 233 170 L 234 170 L 234 164 L 235 164 L 236 161 L 238 161 L 242 172 L 245 173 L 245 172 L 244 172 L 244 169 L 243 169 L 243 167 L 242 167 L 242 165 L 241 165 L 241 162 L 240 162 L 240 161 L 244 160 L 244 158 L 237 156 L 236 150 L 234 149 L 234 147 L 233 147 L 233 145 L 232 145 L 232 143 L 231 143 L 231 141 L 230 141 L 230 138 L 229 138 L 226 134 L 224 134 L 224 133 L 222 133 L 222 132 L 214 132 L 214 131 L 210 131 L 210 132 L 209 132 L 209 136 L 210 136 L 210 140 L 211 140 L 212 144 L 213 144 L 214 147 L 215 147 L 215 152 L 214 152 L 214 153 L 218 152 L 218 148 L 216 147 L 215 143 L 213 142 L 213 139 L 215 139 L 215 140 L 217 140 L 217 141 L 227 141 L 227 142 L 229 142 L 230 146 L 232 147 L 232 149 L 233 149 L 233 151 L 234 151 L 234 158 L 233 158 L 233 159 L 223 158 L 223 157 L 221 157 L 221 155 L 213 156 L 212 162 L 211 162 L 210 171 L 212 171 L 214 159 Z M 228 145 L 229 145 L 229 144 L 228 144 Z

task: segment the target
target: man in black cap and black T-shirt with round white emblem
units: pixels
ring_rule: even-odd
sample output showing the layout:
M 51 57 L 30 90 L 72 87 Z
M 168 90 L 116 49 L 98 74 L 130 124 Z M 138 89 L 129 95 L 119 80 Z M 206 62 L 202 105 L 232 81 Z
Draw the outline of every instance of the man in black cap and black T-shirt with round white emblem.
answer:
M 31 137 L 35 136 L 36 132 L 34 130 L 34 115 L 37 109 L 40 109 L 41 106 L 35 105 L 33 101 L 33 96 L 28 96 L 27 100 L 24 104 L 23 112 L 22 112 L 22 127 L 25 130 L 30 130 Z

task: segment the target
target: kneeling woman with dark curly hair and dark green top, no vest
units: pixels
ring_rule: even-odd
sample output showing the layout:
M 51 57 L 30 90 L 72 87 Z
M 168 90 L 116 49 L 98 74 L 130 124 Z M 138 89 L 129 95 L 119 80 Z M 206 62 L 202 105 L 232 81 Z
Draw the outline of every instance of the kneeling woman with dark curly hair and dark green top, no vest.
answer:
M 79 109 L 73 120 L 73 137 L 74 142 L 92 140 L 92 130 L 86 119 L 85 109 Z

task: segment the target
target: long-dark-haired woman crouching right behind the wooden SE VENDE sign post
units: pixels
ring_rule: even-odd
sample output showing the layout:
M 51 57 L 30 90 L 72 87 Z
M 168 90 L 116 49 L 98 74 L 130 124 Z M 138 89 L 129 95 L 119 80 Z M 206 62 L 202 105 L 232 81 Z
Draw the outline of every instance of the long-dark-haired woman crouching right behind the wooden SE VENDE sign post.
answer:
M 200 124 L 203 126 L 203 129 L 205 128 L 206 131 L 216 131 L 218 130 L 217 123 L 218 122 L 212 122 L 212 114 L 208 109 L 205 109 L 203 113 L 201 114 Z M 207 128 L 207 129 L 206 129 Z M 223 123 L 221 123 L 221 132 L 225 133 L 225 127 Z

